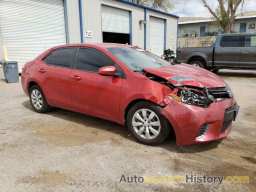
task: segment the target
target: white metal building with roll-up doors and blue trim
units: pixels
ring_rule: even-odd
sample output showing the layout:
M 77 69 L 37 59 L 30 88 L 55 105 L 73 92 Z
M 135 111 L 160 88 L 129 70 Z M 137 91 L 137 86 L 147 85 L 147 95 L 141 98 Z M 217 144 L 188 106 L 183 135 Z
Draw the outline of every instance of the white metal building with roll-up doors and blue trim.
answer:
M 178 16 L 126 0 L 0 0 L 0 60 L 22 66 L 66 43 L 176 50 Z

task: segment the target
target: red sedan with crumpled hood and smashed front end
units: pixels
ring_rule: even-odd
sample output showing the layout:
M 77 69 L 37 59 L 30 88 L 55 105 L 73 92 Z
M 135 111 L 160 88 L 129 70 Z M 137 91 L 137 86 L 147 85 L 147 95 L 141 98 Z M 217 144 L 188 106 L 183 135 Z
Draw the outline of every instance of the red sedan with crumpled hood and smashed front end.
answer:
M 54 106 L 127 124 L 150 145 L 171 130 L 178 145 L 226 138 L 239 108 L 212 72 L 123 44 L 50 48 L 26 63 L 21 80 L 36 112 Z

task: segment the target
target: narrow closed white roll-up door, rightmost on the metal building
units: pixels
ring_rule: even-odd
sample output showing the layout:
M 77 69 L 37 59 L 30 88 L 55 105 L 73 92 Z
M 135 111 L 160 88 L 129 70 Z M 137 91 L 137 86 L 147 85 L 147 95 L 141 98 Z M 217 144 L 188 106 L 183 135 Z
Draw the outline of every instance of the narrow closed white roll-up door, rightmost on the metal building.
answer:
M 149 20 L 149 46 L 158 56 L 164 53 L 164 20 L 150 17 Z

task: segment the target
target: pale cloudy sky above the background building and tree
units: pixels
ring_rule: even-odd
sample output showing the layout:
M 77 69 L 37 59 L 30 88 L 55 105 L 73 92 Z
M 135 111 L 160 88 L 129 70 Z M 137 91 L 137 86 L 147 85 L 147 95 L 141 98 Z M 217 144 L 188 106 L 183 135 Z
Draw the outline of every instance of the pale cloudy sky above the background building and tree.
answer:
M 217 0 L 206 0 L 206 2 L 213 10 L 218 6 Z M 172 3 L 174 8 L 170 10 L 170 13 L 180 17 L 212 17 L 208 9 L 204 7 L 202 0 L 172 0 Z M 256 0 L 247 0 L 242 11 L 256 11 Z M 236 13 L 240 12 L 241 6 Z

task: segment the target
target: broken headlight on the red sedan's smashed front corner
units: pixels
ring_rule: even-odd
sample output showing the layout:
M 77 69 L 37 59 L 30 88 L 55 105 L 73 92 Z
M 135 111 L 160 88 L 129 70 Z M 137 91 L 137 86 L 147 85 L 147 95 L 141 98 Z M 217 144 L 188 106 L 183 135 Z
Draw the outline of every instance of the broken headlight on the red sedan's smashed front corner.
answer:
M 210 103 L 214 102 L 208 92 L 194 88 L 179 87 L 176 93 L 170 96 L 179 102 L 194 105 L 199 107 L 208 107 Z

